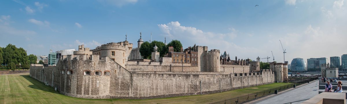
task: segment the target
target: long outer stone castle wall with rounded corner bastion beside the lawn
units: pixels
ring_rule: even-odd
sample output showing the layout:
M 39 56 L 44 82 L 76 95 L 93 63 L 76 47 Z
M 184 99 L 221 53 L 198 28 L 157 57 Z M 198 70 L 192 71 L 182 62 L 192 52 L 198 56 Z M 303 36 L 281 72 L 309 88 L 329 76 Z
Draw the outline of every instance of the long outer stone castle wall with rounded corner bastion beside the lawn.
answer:
M 274 82 L 271 70 L 259 73 L 225 72 L 131 72 L 108 57 L 62 56 L 56 67 L 31 66 L 30 76 L 46 76 L 61 94 L 79 98 L 165 98 L 210 94 Z M 42 70 L 44 70 L 42 72 Z M 41 73 L 40 73 L 41 71 Z M 63 71 L 65 73 L 63 73 Z M 67 74 L 72 71 L 72 74 Z M 90 75 L 84 75 L 90 71 Z M 101 75 L 95 75 L 98 71 Z M 110 72 L 105 75 L 104 72 Z M 53 75 L 52 75 L 53 74 Z

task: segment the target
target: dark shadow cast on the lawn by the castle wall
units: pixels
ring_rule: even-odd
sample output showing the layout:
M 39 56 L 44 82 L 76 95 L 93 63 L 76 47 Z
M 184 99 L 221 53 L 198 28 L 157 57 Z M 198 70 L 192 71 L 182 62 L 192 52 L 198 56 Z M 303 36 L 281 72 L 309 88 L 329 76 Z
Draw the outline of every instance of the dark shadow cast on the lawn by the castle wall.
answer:
M 29 75 L 20 75 L 20 76 L 24 77 L 26 80 L 28 80 L 29 82 L 34 84 L 34 85 L 27 86 L 29 88 L 34 88 L 34 89 L 43 90 L 43 91 L 46 91 L 46 92 L 60 94 L 59 92 L 55 91 L 52 87 L 45 86 L 43 83 L 41 83 L 40 81 L 30 77 Z

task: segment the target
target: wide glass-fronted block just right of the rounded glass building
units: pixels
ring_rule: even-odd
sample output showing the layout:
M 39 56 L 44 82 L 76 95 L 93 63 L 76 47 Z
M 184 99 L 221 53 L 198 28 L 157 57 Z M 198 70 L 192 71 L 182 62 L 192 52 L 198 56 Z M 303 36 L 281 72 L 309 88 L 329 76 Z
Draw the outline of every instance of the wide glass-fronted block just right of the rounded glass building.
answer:
M 307 59 L 307 69 L 320 69 L 321 64 L 326 64 L 327 58 L 310 58 Z

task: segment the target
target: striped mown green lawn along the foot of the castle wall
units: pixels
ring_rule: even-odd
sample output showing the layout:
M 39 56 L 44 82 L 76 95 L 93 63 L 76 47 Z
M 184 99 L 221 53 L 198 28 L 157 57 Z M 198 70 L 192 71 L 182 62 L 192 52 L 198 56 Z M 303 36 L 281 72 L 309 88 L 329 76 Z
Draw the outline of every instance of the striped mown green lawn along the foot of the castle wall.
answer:
M 0 104 L 203 104 L 290 83 L 273 83 L 228 92 L 157 99 L 84 99 L 61 95 L 29 74 L 0 75 Z

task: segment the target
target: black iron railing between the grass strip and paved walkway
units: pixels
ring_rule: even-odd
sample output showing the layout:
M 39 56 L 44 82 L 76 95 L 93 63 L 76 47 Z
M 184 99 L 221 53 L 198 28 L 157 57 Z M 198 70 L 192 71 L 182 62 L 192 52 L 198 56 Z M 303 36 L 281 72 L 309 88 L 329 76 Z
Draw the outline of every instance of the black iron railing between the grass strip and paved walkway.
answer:
M 241 96 L 237 96 L 237 97 L 223 99 L 223 100 L 208 103 L 208 104 L 242 104 L 242 103 L 253 101 L 255 99 L 262 98 L 262 97 L 265 97 L 265 96 L 268 96 L 271 94 L 277 94 L 278 92 L 281 92 L 283 90 L 287 90 L 289 88 L 293 88 L 293 87 L 298 86 L 298 85 L 309 83 L 310 81 L 317 80 L 317 79 L 318 78 L 310 78 L 307 80 L 299 81 L 297 83 L 292 83 L 292 84 L 288 84 L 288 85 L 284 85 L 284 86 L 280 86 L 280 87 L 276 87 L 276 88 L 271 88 L 271 89 L 263 90 L 261 92 L 256 92 L 256 93 L 251 93 L 251 94 L 247 94 L 247 95 L 241 95 Z

